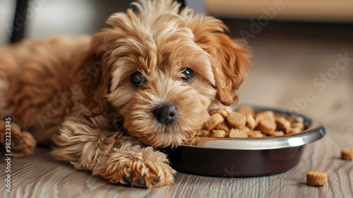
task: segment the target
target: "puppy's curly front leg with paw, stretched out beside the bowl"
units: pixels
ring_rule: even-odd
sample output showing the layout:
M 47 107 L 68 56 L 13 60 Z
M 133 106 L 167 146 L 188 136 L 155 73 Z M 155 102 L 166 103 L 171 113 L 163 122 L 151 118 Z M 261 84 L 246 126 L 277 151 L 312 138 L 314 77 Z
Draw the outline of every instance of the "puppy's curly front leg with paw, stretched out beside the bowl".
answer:
M 121 132 L 112 132 L 104 116 L 68 117 L 54 137 L 55 158 L 78 170 L 90 170 L 109 182 L 138 187 L 163 186 L 174 181 L 167 156 Z

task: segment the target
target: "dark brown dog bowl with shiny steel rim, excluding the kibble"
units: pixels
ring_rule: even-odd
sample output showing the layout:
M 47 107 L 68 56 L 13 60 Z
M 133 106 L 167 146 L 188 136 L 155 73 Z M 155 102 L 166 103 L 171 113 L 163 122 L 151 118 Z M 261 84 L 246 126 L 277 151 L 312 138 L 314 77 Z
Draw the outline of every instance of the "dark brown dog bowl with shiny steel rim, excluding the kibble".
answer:
M 315 120 L 301 114 L 265 107 L 257 111 L 275 113 L 303 121 L 300 134 L 262 138 L 196 137 L 193 145 L 164 148 L 172 168 L 179 172 L 219 177 L 251 177 L 282 173 L 300 161 L 306 144 L 325 136 L 325 129 Z

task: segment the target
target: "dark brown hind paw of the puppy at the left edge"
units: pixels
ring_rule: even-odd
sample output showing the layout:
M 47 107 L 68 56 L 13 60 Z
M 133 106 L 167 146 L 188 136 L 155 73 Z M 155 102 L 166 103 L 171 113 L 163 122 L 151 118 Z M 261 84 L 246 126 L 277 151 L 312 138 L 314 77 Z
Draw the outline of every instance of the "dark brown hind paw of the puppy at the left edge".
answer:
M 7 127 L 10 125 L 11 127 Z M 6 130 L 11 129 L 11 130 Z M 18 124 L 6 124 L 0 121 L 0 146 L 2 154 L 12 154 L 14 157 L 23 157 L 34 151 L 36 142 L 32 134 L 21 132 Z M 10 149 L 6 148 L 10 146 Z

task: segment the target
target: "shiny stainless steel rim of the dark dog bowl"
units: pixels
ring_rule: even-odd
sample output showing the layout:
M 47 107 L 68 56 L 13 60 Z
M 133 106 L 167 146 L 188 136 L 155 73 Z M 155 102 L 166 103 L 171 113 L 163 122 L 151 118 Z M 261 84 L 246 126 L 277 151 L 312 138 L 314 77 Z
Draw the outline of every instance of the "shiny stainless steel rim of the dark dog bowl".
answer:
M 325 129 L 316 120 L 311 120 L 308 117 L 288 112 L 285 110 L 277 110 L 267 107 L 253 107 L 255 110 L 273 110 L 274 112 L 292 115 L 297 119 L 303 119 L 309 125 L 300 134 L 286 135 L 280 137 L 267 137 L 267 138 L 252 138 L 252 139 L 222 139 L 203 137 L 205 143 L 203 146 L 188 146 L 193 148 L 209 148 L 209 149 L 228 149 L 228 150 L 264 150 L 264 149 L 277 149 L 277 148 L 291 148 L 294 146 L 303 146 L 313 141 L 323 138 L 325 136 Z

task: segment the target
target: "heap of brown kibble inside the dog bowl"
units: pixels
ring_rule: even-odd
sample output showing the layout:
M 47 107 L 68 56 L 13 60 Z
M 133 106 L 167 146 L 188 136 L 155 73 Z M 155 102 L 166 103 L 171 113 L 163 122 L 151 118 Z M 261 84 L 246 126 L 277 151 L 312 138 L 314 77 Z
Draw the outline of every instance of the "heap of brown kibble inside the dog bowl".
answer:
M 197 135 L 233 138 L 283 136 L 298 134 L 304 128 L 304 122 L 297 122 L 293 117 L 241 107 L 234 112 L 228 109 L 211 110 L 210 120 L 203 129 L 198 130 Z

